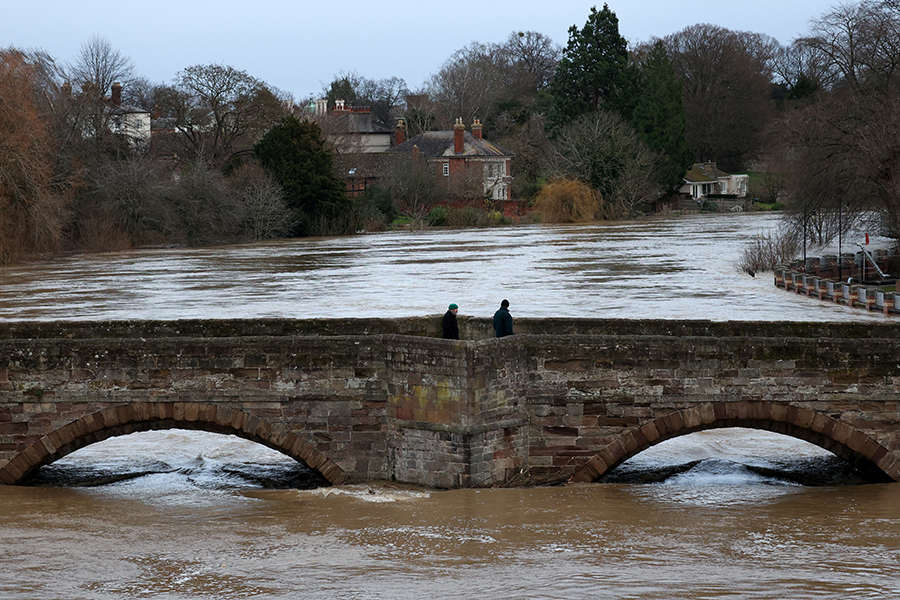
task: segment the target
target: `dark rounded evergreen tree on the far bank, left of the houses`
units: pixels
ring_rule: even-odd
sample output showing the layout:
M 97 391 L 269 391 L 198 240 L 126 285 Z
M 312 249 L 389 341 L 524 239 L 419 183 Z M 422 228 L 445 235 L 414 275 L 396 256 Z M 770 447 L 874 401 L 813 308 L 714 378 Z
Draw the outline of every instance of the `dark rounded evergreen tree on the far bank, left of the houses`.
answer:
M 317 124 L 285 117 L 254 146 L 254 152 L 284 188 L 297 222 L 295 235 L 355 229 L 352 203 L 334 173 L 331 152 Z

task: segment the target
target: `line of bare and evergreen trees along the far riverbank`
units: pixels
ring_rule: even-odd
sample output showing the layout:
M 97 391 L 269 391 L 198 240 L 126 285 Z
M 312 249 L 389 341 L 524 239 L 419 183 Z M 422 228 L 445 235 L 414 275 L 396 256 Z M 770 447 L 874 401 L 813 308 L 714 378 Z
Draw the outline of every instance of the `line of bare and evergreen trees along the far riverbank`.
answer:
M 349 197 L 342 176 L 359 160 L 316 122 L 322 97 L 368 107 L 385 130 L 402 118 L 409 137 L 479 119 L 514 155 L 513 196 L 547 218 L 632 216 L 692 163 L 715 161 L 757 174 L 754 197 L 787 201 L 794 229 L 818 241 L 864 219 L 900 237 L 898 39 L 900 0 L 829 9 L 788 45 L 698 24 L 629 47 L 604 5 L 565 45 L 513 32 L 459 49 L 418 90 L 345 72 L 300 100 L 219 64 L 151 83 L 100 37 L 69 65 L 7 48 L 0 262 L 351 233 L 446 198 L 416 166 L 385 168 Z M 152 113 L 152 143 L 122 106 Z M 462 182 L 454 193 L 480 191 Z

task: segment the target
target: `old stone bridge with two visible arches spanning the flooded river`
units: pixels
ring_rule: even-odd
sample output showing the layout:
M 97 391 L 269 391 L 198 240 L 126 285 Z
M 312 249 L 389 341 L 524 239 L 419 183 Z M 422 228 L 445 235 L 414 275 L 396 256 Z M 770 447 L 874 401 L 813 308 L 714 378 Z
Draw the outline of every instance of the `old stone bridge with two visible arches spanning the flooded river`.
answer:
M 331 484 L 589 482 L 718 427 L 900 480 L 900 325 L 440 317 L 0 323 L 0 483 L 111 436 L 227 433 Z

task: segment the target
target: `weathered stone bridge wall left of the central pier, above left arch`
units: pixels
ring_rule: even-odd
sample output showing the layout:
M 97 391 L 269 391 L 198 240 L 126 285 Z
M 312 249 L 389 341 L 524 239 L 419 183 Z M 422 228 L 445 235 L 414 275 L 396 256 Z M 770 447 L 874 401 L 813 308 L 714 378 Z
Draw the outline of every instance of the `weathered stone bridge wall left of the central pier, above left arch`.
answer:
M 390 477 L 384 356 L 353 338 L 54 337 L 0 340 L 0 357 L 0 466 L 104 409 L 197 405 L 273 424 L 236 432 L 244 437 L 278 448 L 288 433 L 302 433 L 357 478 Z M 160 426 L 171 425 L 167 416 Z M 178 425 L 232 432 L 196 419 Z M 133 427 L 115 423 L 110 433 Z M 48 457 L 56 450 L 67 448 Z

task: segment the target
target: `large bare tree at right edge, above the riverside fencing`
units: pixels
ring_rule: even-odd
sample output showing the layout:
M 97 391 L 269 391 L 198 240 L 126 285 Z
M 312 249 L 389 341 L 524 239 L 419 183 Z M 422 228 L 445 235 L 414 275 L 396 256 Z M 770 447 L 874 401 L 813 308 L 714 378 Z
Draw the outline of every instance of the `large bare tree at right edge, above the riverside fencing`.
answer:
M 900 5 L 838 6 L 799 40 L 823 92 L 779 123 L 796 229 L 827 242 L 861 220 L 900 238 Z

